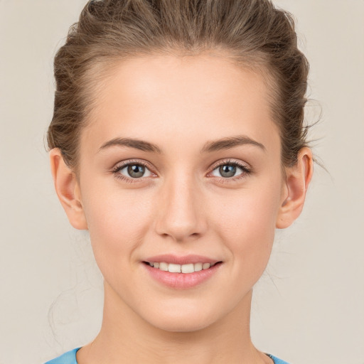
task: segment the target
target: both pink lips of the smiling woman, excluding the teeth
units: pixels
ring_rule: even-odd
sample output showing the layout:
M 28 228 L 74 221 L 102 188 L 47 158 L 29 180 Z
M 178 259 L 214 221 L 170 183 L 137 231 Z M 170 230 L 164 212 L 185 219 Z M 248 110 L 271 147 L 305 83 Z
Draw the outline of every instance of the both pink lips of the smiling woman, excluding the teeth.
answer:
M 168 264 L 172 263 L 181 265 L 190 263 L 210 263 L 213 265 L 210 268 L 200 270 L 199 272 L 183 274 L 165 272 L 161 269 L 156 269 L 147 264 L 148 262 L 166 262 Z M 177 257 L 176 255 L 156 255 L 145 259 L 141 263 L 149 273 L 150 277 L 164 286 L 174 289 L 188 289 L 196 287 L 198 284 L 201 284 L 212 277 L 221 266 L 220 260 L 210 259 L 201 255 L 186 255 L 183 257 Z

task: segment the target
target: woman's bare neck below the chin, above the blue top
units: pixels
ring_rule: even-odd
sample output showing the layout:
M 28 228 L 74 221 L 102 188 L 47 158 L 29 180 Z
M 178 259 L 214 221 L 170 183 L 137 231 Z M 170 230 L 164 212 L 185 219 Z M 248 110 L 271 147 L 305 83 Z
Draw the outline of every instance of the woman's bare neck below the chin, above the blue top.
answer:
M 250 291 L 220 321 L 197 331 L 171 332 L 141 319 L 105 284 L 102 328 L 77 352 L 79 364 L 93 363 L 272 363 L 250 339 Z

